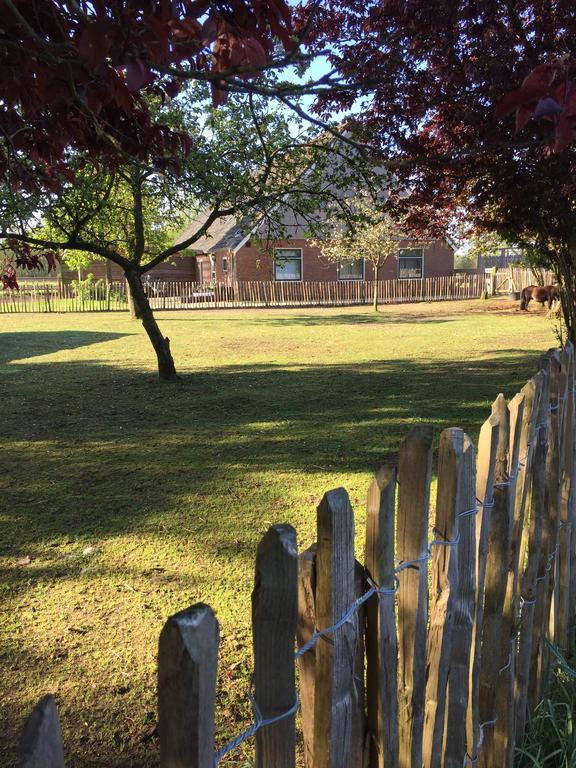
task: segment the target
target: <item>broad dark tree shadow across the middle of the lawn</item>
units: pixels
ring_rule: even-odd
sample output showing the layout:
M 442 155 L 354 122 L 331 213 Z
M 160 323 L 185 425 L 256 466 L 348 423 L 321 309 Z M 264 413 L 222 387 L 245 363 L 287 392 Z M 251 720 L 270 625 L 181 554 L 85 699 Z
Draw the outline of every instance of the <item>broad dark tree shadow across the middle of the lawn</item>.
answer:
M 264 472 L 336 481 L 373 471 L 417 423 L 461 426 L 476 440 L 496 395 L 513 395 L 535 363 L 510 349 L 449 362 L 229 366 L 162 389 L 153 374 L 96 362 L 27 363 L 4 404 L 17 414 L 0 448 L 8 538 L 19 549 L 94 526 L 113 536 L 170 515 L 183 496 L 202 505 Z

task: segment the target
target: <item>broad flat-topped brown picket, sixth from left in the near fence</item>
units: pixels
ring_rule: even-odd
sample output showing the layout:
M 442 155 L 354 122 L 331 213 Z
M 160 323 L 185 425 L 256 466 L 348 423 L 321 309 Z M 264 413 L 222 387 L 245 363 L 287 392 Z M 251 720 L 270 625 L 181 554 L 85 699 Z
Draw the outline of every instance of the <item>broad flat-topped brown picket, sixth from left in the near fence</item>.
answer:
M 432 427 L 415 427 L 400 447 L 398 462 L 397 552 L 401 563 L 398 591 L 399 765 L 422 765 L 426 694 L 428 603 L 428 513 L 432 474 Z

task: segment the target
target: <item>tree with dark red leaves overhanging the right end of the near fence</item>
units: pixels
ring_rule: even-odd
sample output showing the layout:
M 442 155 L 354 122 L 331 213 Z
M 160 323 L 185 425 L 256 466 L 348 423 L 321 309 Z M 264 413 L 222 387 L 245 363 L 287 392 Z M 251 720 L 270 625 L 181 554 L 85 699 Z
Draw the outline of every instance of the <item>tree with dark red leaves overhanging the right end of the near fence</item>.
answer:
M 574 340 L 572 0 L 332 0 L 314 36 L 345 78 L 370 80 L 356 94 L 358 137 L 394 160 L 412 223 L 438 232 L 465 210 L 476 228 L 539 249 L 562 280 Z M 333 93 L 317 109 L 348 105 Z

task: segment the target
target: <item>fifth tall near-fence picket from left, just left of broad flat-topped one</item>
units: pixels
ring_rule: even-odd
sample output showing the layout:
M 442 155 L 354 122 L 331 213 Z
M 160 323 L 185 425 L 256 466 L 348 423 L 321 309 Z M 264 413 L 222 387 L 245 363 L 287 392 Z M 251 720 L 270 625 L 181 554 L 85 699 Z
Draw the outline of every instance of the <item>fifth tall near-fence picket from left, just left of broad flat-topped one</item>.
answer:
M 389 592 L 366 609 L 366 686 L 370 768 L 398 766 L 398 639 L 394 576 L 396 470 L 383 467 L 370 483 L 366 510 L 366 569 Z

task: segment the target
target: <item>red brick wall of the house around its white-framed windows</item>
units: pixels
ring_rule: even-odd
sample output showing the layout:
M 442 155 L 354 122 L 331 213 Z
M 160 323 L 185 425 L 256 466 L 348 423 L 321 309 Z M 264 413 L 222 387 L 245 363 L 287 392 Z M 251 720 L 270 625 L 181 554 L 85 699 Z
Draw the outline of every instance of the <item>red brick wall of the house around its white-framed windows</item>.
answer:
M 338 279 L 337 266 L 320 255 L 318 248 L 307 244 L 306 240 L 284 240 L 275 244 L 277 248 L 302 249 L 302 279 L 307 281 L 331 281 Z M 407 243 L 400 243 L 404 247 Z M 236 254 L 236 279 L 266 281 L 274 279 L 272 256 L 263 253 L 254 246 L 244 246 Z M 373 267 L 368 262 L 364 265 L 364 278 L 372 280 Z M 454 271 L 454 252 L 444 242 L 437 241 L 424 249 L 424 277 L 451 275 Z M 388 259 L 380 269 L 381 280 L 398 277 L 398 260 Z

